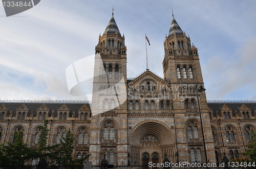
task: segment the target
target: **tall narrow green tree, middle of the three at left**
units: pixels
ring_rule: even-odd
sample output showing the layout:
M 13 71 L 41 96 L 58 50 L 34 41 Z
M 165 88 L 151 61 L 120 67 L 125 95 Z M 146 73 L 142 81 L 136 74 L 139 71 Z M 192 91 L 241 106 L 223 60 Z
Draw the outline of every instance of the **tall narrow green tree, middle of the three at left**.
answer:
M 58 157 L 58 150 L 56 148 L 59 147 L 59 144 L 50 146 L 47 144 L 49 129 L 47 125 L 49 124 L 48 120 L 44 121 L 44 127 L 40 127 L 41 133 L 38 137 L 38 150 L 37 150 L 37 158 L 42 158 L 44 154 L 44 158 L 48 164 L 53 163 Z

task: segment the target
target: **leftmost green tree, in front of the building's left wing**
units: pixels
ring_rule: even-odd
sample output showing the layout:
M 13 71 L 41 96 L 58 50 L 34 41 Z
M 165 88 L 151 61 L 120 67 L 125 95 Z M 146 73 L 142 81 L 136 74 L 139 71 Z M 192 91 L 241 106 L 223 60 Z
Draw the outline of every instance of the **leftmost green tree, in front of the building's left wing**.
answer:
M 26 161 L 33 159 L 37 153 L 28 148 L 23 141 L 23 133 L 18 131 L 15 133 L 15 142 L 7 143 L 2 146 L 1 159 L 2 165 L 24 165 Z

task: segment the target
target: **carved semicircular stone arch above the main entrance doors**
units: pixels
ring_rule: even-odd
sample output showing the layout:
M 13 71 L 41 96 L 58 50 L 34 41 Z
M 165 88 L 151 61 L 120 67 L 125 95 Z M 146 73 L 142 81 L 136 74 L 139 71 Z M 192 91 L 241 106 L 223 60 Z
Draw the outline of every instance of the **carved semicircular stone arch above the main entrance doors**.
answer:
M 139 146 L 141 139 L 147 134 L 154 134 L 161 139 L 160 145 L 175 144 L 175 135 L 172 130 L 166 124 L 157 120 L 146 120 L 137 124 L 131 131 L 129 142 Z

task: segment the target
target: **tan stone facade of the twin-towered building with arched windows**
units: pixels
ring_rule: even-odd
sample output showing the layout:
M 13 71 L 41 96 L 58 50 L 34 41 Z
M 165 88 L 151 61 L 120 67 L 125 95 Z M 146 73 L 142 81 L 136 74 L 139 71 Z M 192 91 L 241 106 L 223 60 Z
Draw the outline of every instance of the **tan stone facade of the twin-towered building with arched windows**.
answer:
M 162 162 L 164 154 L 178 161 L 218 162 L 223 150 L 229 159 L 244 158 L 245 145 L 255 131 L 256 103 L 206 101 L 198 49 L 173 17 L 164 41 L 163 76 L 146 69 L 127 79 L 125 37 L 112 16 L 95 47 L 93 103 L 41 102 L 0 104 L 0 144 L 13 142 L 21 130 L 24 141 L 37 148 L 37 137 L 49 120 L 48 143 L 58 143 L 71 128 L 74 157 L 92 154 L 114 165 Z M 124 88 L 123 88 L 124 86 Z M 203 131 L 203 133 L 202 133 Z M 37 161 L 32 161 L 36 163 Z

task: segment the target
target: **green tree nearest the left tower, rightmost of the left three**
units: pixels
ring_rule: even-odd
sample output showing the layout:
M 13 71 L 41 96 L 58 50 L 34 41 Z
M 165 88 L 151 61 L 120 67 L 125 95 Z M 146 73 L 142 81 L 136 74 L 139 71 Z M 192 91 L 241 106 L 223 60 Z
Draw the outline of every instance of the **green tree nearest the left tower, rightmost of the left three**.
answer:
M 71 134 L 70 128 L 66 133 L 66 137 L 61 136 L 59 157 L 56 160 L 57 164 L 81 165 L 85 160 L 88 159 L 90 155 L 87 155 L 86 157 L 82 157 L 80 159 L 73 159 L 74 139 L 75 137 Z

